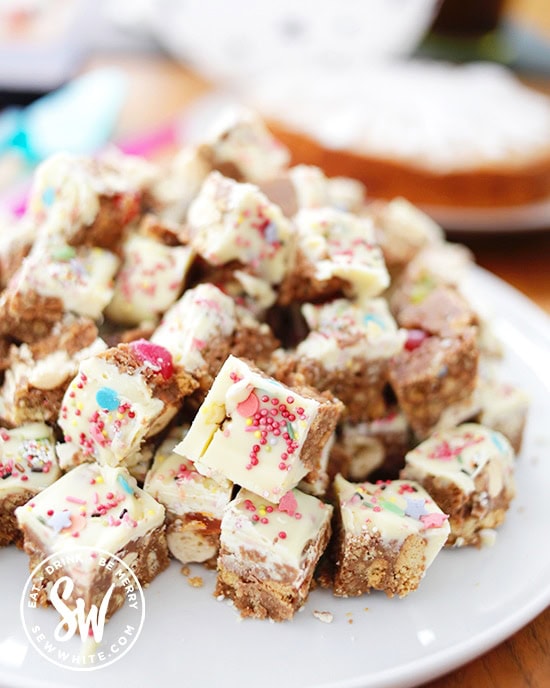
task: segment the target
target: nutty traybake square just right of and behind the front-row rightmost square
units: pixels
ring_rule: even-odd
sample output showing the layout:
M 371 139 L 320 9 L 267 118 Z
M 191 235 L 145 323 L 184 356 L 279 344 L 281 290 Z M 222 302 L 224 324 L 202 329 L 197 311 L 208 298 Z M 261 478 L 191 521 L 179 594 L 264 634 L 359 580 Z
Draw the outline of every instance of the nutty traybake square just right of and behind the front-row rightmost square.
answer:
M 449 514 L 448 545 L 481 546 L 515 494 L 514 451 L 499 432 L 464 423 L 408 452 L 401 477 L 416 480 Z

